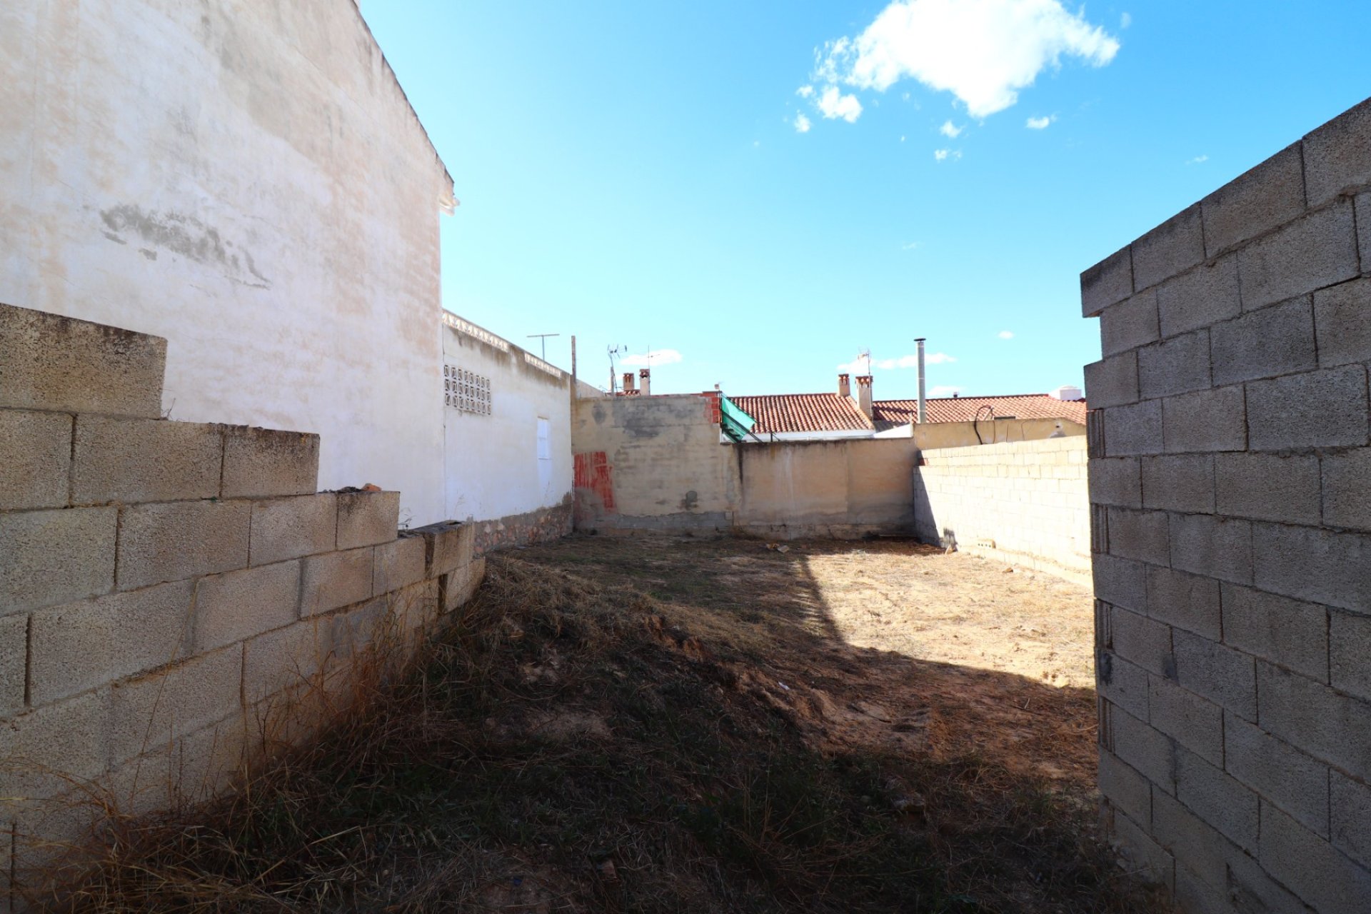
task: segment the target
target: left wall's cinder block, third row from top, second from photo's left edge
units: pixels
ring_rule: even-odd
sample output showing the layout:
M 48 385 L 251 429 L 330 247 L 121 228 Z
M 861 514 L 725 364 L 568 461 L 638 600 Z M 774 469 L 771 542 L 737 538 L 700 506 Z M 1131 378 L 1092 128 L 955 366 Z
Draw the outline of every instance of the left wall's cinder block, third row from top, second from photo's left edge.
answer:
M 241 569 L 248 563 L 247 502 L 169 502 L 121 510 L 121 591 Z

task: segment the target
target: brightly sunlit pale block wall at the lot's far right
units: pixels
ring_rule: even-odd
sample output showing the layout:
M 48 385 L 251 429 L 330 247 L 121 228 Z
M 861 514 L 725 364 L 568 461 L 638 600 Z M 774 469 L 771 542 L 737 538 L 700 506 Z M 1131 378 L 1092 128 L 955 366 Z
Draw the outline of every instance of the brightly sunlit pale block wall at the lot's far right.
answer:
M 1084 578 L 1090 573 L 1086 439 L 921 451 L 914 517 L 927 543 Z

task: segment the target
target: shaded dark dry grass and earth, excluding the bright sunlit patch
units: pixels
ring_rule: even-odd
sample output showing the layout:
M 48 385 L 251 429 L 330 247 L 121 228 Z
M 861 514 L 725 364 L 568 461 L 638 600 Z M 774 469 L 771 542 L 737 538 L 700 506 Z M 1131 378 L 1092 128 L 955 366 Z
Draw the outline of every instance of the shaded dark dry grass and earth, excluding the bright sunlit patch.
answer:
M 762 567 L 721 577 L 729 555 Z M 1152 910 L 1090 837 L 1078 766 L 1023 762 L 1087 754 L 1084 689 L 851 644 L 817 558 L 494 558 L 421 660 L 317 740 L 213 803 L 117 818 L 73 907 Z M 1028 706 L 1017 737 L 972 739 L 1005 724 L 991 695 Z

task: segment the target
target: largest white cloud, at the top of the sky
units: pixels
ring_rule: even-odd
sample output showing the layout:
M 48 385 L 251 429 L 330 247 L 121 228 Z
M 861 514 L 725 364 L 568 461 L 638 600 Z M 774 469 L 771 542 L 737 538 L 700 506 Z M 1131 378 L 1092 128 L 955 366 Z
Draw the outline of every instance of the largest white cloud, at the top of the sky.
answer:
M 1116 53 L 1117 38 L 1061 0 L 894 0 L 856 38 L 825 44 L 813 78 L 835 99 L 839 84 L 884 92 L 912 78 L 984 118 L 1015 104 L 1064 56 L 1102 67 Z

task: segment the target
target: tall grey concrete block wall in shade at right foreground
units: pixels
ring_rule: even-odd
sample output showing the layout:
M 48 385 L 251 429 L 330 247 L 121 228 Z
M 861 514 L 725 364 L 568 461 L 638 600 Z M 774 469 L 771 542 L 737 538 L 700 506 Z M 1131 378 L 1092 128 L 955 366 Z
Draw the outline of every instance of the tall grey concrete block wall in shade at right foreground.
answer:
M 1104 821 L 1183 911 L 1371 910 L 1371 101 L 1082 274 Z

